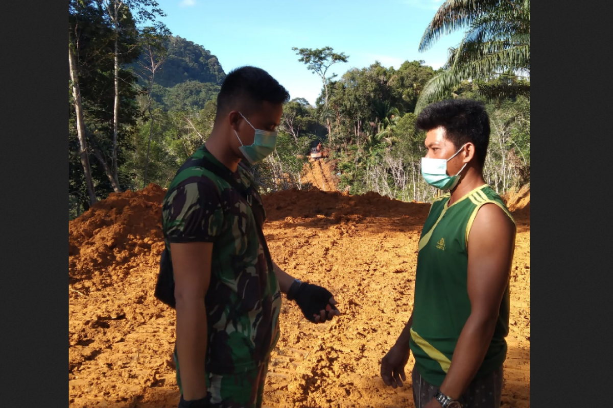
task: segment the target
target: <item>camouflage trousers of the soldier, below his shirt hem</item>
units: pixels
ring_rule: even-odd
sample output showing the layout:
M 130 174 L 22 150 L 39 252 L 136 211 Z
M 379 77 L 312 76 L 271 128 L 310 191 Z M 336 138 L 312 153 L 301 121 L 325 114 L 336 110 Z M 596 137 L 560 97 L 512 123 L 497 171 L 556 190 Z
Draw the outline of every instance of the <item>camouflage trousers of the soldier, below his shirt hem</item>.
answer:
M 176 351 L 172 357 L 177 367 L 177 384 L 181 395 L 183 395 Z M 207 407 L 260 408 L 269 361 L 270 358 L 267 358 L 259 368 L 241 373 L 219 375 L 207 372 Z

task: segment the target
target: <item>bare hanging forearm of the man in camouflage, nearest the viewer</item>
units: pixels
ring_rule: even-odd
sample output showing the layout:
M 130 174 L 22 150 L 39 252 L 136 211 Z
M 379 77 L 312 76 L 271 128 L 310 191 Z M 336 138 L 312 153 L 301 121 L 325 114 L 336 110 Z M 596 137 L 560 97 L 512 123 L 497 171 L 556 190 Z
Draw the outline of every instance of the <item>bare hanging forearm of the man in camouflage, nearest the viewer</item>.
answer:
M 177 299 L 177 355 L 186 400 L 207 395 L 207 311 L 204 299 Z

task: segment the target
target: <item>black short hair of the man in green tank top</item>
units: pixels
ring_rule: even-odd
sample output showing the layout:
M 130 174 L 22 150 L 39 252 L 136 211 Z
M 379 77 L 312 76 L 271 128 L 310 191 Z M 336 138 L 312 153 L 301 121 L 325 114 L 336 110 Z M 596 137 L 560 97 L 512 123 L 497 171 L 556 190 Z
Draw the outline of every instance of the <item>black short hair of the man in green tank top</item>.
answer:
M 417 116 L 416 127 L 429 130 L 445 128 L 445 137 L 459 149 L 474 144 L 474 154 L 481 167 L 490 143 L 490 118 L 483 103 L 472 99 L 447 99 L 432 103 Z

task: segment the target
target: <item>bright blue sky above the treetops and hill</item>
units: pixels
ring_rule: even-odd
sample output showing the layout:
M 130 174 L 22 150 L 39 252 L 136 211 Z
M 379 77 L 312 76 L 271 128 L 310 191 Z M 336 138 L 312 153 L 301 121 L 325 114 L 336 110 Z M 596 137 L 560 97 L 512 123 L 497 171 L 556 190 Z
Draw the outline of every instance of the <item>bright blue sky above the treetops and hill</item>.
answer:
M 339 76 L 375 61 L 398 68 L 424 60 L 435 69 L 446 61 L 462 32 L 444 35 L 419 53 L 422 34 L 444 0 L 158 0 L 173 35 L 204 46 L 224 69 L 254 65 L 266 70 L 289 91 L 314 104 L 319 76 L 307 70 L 292 51 L 331 46 L 349 56 L 332 65 Z

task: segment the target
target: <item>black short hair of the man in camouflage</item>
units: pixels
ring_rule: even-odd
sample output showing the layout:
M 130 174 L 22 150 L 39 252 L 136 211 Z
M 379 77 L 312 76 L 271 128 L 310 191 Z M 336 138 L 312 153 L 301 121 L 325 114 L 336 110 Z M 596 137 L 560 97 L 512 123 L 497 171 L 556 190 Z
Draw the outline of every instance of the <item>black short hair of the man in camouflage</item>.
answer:
M 289 92 L 268 72 L 256 67 L 240 67 L 232 70 L 221 84 L 217 95 L 215 120 L 232 109 L 248 115 L 263 102 L 284 103 Z

